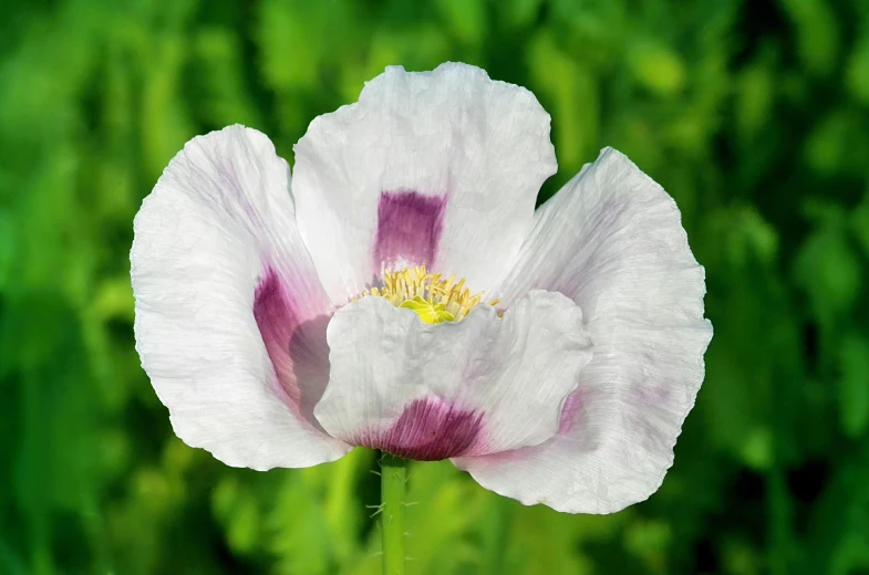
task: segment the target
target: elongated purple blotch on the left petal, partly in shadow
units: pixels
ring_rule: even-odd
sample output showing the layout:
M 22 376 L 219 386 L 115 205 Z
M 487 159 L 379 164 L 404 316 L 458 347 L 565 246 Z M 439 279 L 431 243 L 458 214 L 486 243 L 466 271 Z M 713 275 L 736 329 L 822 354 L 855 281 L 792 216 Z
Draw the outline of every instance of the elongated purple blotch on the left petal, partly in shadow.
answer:
M 299 322 L 296 307 L 278 273 L 267 268 L 255 292 L 254 318 L 278 378 L 275 391 L 294 414 L 322 430 L 313 407 L 329 383 L 329 316 Z

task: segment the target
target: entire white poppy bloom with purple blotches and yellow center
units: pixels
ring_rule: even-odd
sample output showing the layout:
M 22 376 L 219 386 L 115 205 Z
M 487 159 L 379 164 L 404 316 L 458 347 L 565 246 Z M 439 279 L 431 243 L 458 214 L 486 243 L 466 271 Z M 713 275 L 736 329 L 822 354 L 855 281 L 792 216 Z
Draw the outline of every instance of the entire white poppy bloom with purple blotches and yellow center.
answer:
M 230 466 L 451 458 L 525 504 L 663 481 L 712 336 L 675 202 L 604 149 L 535 211 L 549 115 L 477 67 L 389 67 L 314 118 L 190 140 L 135 220 L 136 347 Z

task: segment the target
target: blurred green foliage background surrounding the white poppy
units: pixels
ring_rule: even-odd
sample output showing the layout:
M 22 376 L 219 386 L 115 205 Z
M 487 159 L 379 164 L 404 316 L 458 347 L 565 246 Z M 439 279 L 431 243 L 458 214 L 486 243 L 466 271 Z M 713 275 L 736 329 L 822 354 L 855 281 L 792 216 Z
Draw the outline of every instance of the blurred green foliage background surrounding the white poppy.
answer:
M 869 573 L 866 0 L 3 0 L 0 574 L 374 574 L 373 452 L 229 469 L 133 348 L 132 219 L 231 123 L 290 159 L 387 64 L 480 65 L 552 115 L 555 192 L 604 145 L 675 197 L 707 376 L 649 501 L 524 508 L 414 464 L 417 574 Z

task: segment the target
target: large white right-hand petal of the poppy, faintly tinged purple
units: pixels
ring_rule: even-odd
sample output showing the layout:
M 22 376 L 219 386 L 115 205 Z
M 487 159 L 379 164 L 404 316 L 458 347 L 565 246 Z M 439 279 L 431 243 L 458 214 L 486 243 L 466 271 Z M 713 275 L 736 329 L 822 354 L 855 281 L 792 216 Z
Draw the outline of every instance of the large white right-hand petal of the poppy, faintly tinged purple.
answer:
M 703 380 L 705 282 L 673 199 L 606 149 L 539 211 L 497 290 L 559 291 L 586 314 L 594 357 L 548 442 L 455 462 L 485 488 L 571 513 L 610 513 L 658 490 Z

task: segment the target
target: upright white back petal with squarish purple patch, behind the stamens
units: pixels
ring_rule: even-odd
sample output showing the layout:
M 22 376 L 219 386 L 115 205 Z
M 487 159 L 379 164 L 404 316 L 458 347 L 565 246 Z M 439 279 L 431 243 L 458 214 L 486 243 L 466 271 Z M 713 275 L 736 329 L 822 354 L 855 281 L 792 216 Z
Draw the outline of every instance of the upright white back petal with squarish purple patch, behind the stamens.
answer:
M 384 268 L 494 285 L 556 171 L 535 96 L 454 63 L 386 69 L 359 103 L 315 118 L 294 149 L 300 230 L 337 304 Z

